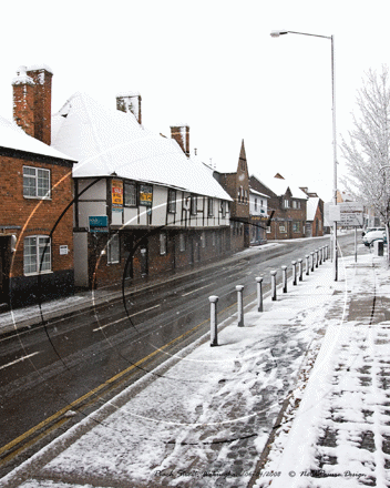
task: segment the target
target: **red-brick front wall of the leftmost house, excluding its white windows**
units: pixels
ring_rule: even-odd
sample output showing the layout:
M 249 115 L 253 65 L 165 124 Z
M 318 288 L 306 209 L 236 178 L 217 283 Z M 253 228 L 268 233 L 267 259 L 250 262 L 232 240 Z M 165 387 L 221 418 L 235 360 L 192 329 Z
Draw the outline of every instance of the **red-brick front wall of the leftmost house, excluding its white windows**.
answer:
M 24 159 L 25 157 L 25 159 Z M 23 196 L 23 166 L 50 170 L 51 199 L 27 199 Z M 2 175 L 0 200 L 0 233 L 17 236 L 16 252 L 10 255 L 9 277 L 16 289 L 13 303 L 19 298 L 29 302 L 29 295 L 34 295 L 32 283 L 37 277 L 24 276 L 23 252 L 24 238 L 33 235 L 49 236 L 54 228 L 51 242 L 52 276 L 61 287 L 61 274 L 65 275 L 66 286 L 73 291 L 71 276 L 73 274 L 73 213 L 72 207 L 60 215 L 72 201 L 71 165 L 54 165 L 49 162 L 38 162 L 33 156 L 12 157 L 0 155 L 0 172 Z M 68 246 L 68 254 L 60 255 L 60 246 Z M 24 293 L 25 292 L 25 293 Z M 20 296 L 19 296 L 20 295 Z

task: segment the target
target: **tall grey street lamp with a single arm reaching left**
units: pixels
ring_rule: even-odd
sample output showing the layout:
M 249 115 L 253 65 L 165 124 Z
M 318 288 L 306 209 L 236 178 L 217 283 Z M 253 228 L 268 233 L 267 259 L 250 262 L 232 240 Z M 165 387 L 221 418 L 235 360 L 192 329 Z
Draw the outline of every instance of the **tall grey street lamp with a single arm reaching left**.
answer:
M 279 38 L 284 34 L 310 35 L 314 38 L 329 39 L 331 42 L 331 100 L 332 100 L 332 133 L 333 133 L 333 205 L 337 205 L 337 142 L 336 142 L 336 92 L 335 92 L 335 39 L 333 35 L 318 35 L 306 32 L 295 32 L 287 30 L 274 30 L 270 35 Z M 337 253 L 337 222 L 333 222 L 333 271 L 335 282 L 338 279 L 338 253 Z

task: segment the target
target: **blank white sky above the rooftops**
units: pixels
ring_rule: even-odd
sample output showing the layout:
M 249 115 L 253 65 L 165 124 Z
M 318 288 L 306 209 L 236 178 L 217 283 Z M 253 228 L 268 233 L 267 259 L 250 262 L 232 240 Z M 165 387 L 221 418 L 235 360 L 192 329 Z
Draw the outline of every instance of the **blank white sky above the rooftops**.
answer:
M 351 129 L 365 71 L 390 57 L 387 0 L 7 3 L 0 115 L 12 116 L 18 67 L 45 63 L 53 112 L 75 91 L 113 108 L 119 92 L 140 91 L 144 125 L 170 135 L 171 124 L 188 123 L 192 150 L 217 170 L 235 170 L 244 139 L 250 173 L 291 174 L 325 201 L 333 181 L 330 40 L 269 33 L 335 35 L 338 135 Z

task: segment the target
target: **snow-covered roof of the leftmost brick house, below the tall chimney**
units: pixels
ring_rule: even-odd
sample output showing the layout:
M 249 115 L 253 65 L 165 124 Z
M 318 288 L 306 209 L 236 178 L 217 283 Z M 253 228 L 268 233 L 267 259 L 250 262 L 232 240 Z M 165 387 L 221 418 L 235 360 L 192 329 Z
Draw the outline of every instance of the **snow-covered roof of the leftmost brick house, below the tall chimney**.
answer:
M 75 162 L 54 148 L 31 138 L 14 122 L 2 116 L 0 116 L 0 146 Z

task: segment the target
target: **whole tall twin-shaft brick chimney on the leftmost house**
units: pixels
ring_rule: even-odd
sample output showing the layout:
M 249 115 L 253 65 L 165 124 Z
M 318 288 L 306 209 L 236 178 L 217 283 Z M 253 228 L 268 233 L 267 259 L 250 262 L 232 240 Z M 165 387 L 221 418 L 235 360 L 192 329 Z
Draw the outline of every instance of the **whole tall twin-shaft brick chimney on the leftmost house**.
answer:
M 47 65 L 21 67 L 13 85 L 13 119 L 29 135 L 51 144 L 51 79 Z

